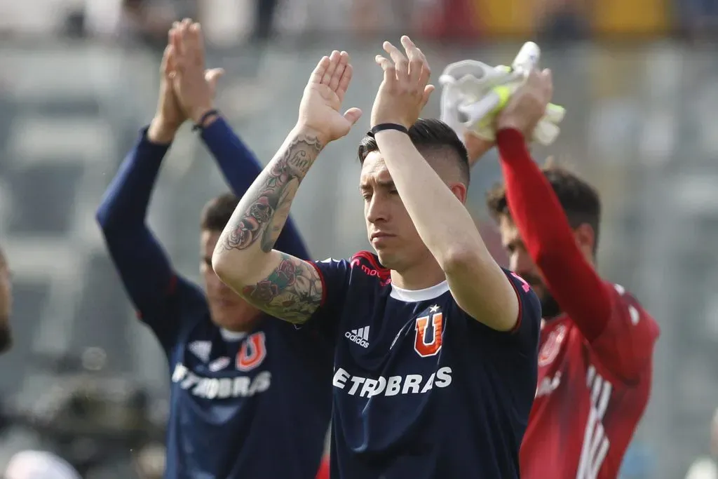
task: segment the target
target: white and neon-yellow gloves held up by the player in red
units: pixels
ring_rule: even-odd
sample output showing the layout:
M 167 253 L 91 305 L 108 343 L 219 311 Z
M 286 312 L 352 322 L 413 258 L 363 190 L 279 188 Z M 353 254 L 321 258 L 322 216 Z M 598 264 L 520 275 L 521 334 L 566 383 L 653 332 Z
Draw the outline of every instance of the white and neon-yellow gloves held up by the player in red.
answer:
M 540 56 L 538 45 L 526 42 L 510 67 L 492 67 L 476 60 L 463 60 L 447 66 L 439 77 L 441 120 L 461 139 L 470 132 L 493 141 L 496 116 L 526 81 Z M 543 145 L 553 143 L 561 131 L 558 124 L 564 119 L 564 113 L 564 108 L 549 103 L 546 115 L 533 131 L 532 140 Z

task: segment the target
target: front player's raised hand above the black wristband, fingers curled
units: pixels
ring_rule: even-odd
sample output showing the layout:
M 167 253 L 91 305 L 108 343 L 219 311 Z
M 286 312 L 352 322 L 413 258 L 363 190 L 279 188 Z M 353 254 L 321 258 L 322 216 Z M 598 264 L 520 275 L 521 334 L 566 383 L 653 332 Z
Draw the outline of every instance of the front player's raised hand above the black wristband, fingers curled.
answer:
M 401 37 L 406 56 L 397 47 L 384 42 L 384 50 L 391 60 L 376 55 L 376 62 L 384 70 L 384 79 L 374 100 L 371 126 L 394 123 L 409 128 L 419 119 L 429 101 L 434 85 L 428 85 L 432 71 L 424 53 L 409 37 Z

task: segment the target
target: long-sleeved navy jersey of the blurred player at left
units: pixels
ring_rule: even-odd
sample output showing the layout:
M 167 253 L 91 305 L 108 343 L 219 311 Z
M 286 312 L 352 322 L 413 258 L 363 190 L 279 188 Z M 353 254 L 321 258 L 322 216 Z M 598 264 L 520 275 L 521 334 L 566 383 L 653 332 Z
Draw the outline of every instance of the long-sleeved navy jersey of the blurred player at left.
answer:
M 261 171 L 253 154 L 221 118 L 202 130 L 202 139 L 243 195 Z M 297 331 L 275 318 L 243 338 L 223 335 L 211 322 L 205 294 L 175 274 L 146 225 L 168 149 L 143 129 L 97 212 L 123 286 L 169 361 L 164 477 L 313 479 L 329 427 L 331 349 L 320 331 Z M 291 218 L 276 248 L 307 258 Z

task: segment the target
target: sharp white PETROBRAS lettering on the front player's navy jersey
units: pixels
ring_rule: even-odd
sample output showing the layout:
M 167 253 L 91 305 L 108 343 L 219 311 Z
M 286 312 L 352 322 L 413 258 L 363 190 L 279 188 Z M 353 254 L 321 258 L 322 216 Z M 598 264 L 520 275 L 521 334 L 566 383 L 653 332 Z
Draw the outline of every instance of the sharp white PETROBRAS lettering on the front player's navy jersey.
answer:
M 444 366 L 428 378 L 421 374 L 407 374 L 406 376 L 379 376 L 376 379 L 352 376 L 343 368 L 337 368 L 332 384 L 335 388 L 347 389 L 347 394 L 360 397 L 372 397 L 379 394 L 396 396 L 397 394 L 423 394 L 434 386 L 445 388 L 451 384 L 452 369 Z

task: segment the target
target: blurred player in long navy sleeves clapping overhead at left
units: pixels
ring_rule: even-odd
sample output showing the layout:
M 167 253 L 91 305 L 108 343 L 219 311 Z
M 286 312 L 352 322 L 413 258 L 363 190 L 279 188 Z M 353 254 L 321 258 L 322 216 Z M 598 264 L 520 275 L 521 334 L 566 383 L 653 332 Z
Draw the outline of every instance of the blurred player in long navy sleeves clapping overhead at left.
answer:
M 172 378 L 166 479 L 312 479 L 329 427 L 331 351 L 309 331 L 267 317 L 215 275 L 211 255 L 237 205 L 216 197 L 200 218 L 203 289 L 177 274 L 146 225 L 159 167 L 191 119 L 233 192 L 261 168 L 213 107 L 218 70 L 204 67 L 199 24 L 169 32 L 157 113 L 98 208 L 113 262 L 141 320 L 157 336 Z M 291 220 L 281 251 L 307 257 Z

